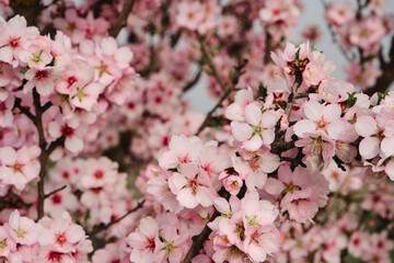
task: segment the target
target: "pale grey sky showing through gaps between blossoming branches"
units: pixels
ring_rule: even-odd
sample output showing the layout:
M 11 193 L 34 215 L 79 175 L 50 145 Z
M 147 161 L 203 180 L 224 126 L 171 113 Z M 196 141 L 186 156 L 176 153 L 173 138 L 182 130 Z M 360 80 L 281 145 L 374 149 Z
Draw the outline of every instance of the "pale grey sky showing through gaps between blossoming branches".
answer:
M 338 0 L 336 0 L 338 1 Z M 341 0 L 343 2 L 352 2 L 356 3 L 356 0 Z M 394 14 L 394 0 L 386 0 L 387 4 L 385 12 Z M 331 2 L 331 1 L 327 1 Z M 299 23 L 296 27 L 294 37 L 291 38 L 293 43 L 300 43 L 300 33 L 310 24 L 317 24 L 322 31 L 322 38 L 318 43 L 315 44 L 317 50 L 324 50 L 327 60 L 333 60 L 337 62 L 337 69 L 332 75 L 334 78 L 339 80 L 346 80 L 346 73 L 344 72 L 344 67 L 347 65 L 344 55 L 339 52 L 338 46 L 334 45 L 328 32 L 328 28 L 324 22 L 324 9 L 321 0 L 301 0 L 303 4 L 303 13 L 299 19 Z M 386 53 L 390 47 L 390 37 L 386 36 L 383 39 L 384 52 Z M 393 89 L 393 85 L 392 85 Z M 200 80 L 199 83 L 194 87 L 189 92 L 184 95 L 185 99 L 189 100 L 193 107 L 197 112 L 208 113 L 216 104 L 216 101 L 212 100 L 206 89 L 205 80 Z

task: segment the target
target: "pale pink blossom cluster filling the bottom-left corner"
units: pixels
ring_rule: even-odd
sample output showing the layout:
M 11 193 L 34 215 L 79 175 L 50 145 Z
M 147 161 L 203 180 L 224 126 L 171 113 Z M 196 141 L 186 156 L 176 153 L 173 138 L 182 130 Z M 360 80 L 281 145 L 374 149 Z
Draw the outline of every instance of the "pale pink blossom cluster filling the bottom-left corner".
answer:
M 0 227 L 0 258 L 7 262 L 84 262 L 93 251 L 83 228 L 67 211 L 34 222 L 14 210 Z

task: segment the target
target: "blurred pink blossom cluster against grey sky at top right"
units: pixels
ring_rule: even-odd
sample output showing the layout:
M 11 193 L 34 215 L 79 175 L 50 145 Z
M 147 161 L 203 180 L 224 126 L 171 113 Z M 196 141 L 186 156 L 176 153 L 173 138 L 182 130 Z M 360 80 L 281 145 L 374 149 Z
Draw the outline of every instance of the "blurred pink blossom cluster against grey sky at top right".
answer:
M 358 54 L 357 59 L 350 56 L 351 60 L 346 67 L 348 81 L 364 91 L 382 76 L 382 70 L 376 66 L 378 60 L 383 62 L 378 59 L 382 54 L 381 39 L 394 30 L 393 16 L 384 12 L 386 4 L 387 1 L 372 0 L 356 10 L 350 2 L 327 4 L 325 18 L 338 35 L 338 43 L 346 53 L 356 50 Z

